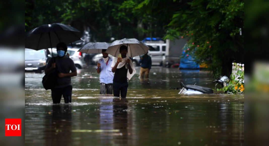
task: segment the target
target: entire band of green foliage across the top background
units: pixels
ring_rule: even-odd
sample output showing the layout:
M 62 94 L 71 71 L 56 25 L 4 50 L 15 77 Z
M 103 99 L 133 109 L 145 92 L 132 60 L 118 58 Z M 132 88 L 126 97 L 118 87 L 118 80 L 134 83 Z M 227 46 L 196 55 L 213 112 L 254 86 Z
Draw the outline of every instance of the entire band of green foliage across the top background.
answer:
M 243 0 L 26 0 L 26 32 L 48 23 L 89 28 L 90 41 L 183 37 L 215 77 L 228 76 L 233 61 L 244 62 Z

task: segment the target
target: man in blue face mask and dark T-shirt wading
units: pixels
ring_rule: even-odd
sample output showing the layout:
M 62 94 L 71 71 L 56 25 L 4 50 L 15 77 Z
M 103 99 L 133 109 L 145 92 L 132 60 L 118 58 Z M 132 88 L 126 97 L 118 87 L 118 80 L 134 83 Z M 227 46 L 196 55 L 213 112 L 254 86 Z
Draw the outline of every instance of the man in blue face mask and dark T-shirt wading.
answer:
M 55 87 L 51 89 L 52 101 L 54 104 L 60 103 L 63 96 L 65 103 L 71 103 L 71 77 L 77 76 L 77 70 L 73 60 L 65 55 L 67 52 L 66 44 L 60 42 L 57 44 L 56 49 L 58 56 L 52 57 L 48 61 L 45 69 L 45 74 L 49 73 L 54 68 L 56 68 L 59 72 Z

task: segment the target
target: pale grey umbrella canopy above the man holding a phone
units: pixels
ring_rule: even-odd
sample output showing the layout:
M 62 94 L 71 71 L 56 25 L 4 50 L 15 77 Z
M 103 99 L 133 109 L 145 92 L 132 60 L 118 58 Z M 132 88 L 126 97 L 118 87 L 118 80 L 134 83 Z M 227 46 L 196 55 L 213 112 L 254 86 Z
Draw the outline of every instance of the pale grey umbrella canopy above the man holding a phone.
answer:
M 112 42 L 105 52 L 116 57 L 118 54 L 120 54 L 119 48 L 121 45 L 126 45 L 128 47 L 128 57 L 146 54 L 149 49 L 145 43 L 135 38 L 123 38 L 122 40 Z

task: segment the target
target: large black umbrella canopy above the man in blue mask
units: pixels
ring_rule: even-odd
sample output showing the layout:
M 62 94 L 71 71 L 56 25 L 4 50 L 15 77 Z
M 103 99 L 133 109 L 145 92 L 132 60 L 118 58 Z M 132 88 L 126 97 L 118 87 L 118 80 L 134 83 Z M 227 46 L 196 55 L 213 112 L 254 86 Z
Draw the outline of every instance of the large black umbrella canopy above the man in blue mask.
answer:
M 61 23 L 45 24 L 30 30 L 25 37 L 25 48 L 41 50 L 56 47 L 59 42 L 70 44 L 80 39 L 80 31 Z

